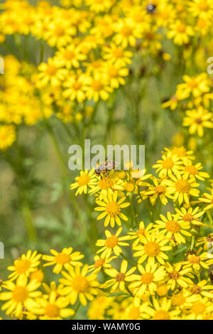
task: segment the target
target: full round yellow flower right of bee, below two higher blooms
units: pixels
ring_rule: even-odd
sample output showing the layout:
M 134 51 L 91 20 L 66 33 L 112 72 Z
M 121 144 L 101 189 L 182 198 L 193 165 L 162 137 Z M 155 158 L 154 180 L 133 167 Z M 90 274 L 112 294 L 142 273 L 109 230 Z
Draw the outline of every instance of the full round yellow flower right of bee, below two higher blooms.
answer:
M 187 204 L 190 203 L 189 196 L 199 196 L 200 190 L 195 189 L 199 187 L 199 183 L 195 182 L 194 178 L 187 178 L 187 175 L 181 176 L 180 173 L 176 173 L 176 176 L 171 176 L 171 180 L 166 180 L 168 185 L 168 192 L 173 195 L 173 201 L 178 200 L 181 204 L 183 201 Z

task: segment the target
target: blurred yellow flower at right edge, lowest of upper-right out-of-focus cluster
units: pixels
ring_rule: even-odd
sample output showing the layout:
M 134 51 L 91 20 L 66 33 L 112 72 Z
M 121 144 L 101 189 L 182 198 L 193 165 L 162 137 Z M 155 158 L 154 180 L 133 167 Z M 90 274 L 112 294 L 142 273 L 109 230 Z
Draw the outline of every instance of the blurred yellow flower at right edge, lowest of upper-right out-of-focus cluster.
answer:
M 198 107 L 198 109 L 187 110 L 187 117 L 183 119 L 183 126 L 190 126 L 190 134 L 197 133 L 198 136 L 202 137 L 204 135 L 204 128 L 212 129 L 213 122 L 212 112 L 207 112 L 203 107 Z

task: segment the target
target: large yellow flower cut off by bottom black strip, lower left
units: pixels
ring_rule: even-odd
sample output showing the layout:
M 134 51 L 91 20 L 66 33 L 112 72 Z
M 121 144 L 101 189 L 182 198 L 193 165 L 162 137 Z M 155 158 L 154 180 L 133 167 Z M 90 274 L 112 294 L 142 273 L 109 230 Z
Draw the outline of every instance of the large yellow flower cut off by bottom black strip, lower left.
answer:
M 37 298 L 36 301 L 40 306 L 38 311 L 40 320 L 62 320 L 75 313 L 72 308 L 67 308 L 68 298 L 57 296 L 55 291 L 51 291 L 48 298 Z

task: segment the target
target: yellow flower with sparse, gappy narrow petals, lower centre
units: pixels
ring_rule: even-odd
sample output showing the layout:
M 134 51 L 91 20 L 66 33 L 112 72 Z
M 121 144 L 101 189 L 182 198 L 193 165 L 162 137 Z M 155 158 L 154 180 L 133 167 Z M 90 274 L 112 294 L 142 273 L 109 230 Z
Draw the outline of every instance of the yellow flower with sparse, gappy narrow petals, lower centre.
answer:
M 127 265 L 127 261 L 123 260 L 120 271 L 117 271 L 114 268 L 105 269 L 106 274 L 113 277 L 113 279 L 109 279 L 109 281 L 104 283 L 104 289 L 107 289 L 109 286 L 111 286 L 110 291 L 113 293 L 119 287 L 120 291 L 126 292 L 125 282 L 133 281 L 132 274 L 134 271 L 136 271 L 136 266 L 133 266 L 131 269 L 129 269 L 129 271 L 126 271 Z

